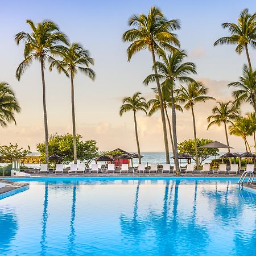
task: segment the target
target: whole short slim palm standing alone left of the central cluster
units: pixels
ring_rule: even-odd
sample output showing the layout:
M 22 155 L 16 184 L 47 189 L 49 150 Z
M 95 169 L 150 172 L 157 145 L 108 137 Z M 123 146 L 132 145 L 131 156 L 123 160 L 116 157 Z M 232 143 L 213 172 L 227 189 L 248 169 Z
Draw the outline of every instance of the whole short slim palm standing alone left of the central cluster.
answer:
M 141 93 L 137 92 L 137 93 L 134 93 L 132 97 L 123 98 L 123 105 L 119 110 L 119 114 L 121 115 L 121 117 L 123 113 L 128 111 L 133 111 L 135 137 L 136 137 L 137 148 L 138 148 L 139 163 L 141 163 L 141 150 L 139 148 L 139 137 L 138 137 L 136 113 L 137 111 L 142 110 L 144 113 L 147 114 L 147 108 L 148 106 L 145 98 L 141 97 Z

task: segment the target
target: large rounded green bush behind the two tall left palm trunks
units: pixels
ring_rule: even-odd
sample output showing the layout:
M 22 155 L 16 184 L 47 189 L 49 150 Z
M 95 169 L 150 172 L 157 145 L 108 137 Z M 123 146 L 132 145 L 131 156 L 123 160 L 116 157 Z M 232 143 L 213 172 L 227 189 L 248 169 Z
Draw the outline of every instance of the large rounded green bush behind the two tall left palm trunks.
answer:
M 77 159 L 90 164 L 94 158 L 98 156 L 98 147 L 96 141 L 82 141 L 81 135 L 76 135 L 77 143 Z M 37 150 L 41 153 L 42 162 L 45 161 L 46 144 L 38 143 Z M 53 134 L 49 136 L 49 155 L 57 154 L 63 158 L 63 163 L 73 161 L 73 136 L 72 134 L 58 135 Z

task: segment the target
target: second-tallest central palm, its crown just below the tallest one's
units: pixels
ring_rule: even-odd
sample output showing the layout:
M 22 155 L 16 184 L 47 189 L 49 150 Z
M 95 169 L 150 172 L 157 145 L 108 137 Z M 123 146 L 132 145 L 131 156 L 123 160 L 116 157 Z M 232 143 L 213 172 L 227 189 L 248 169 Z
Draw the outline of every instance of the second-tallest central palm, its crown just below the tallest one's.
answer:
M 162 81 L 163 90 L 169 90 L 172 102 L 172 133 L 174 137 L 174 159 L 176 174 L 180 174 L 179 159 L 177 154 L 177 131 L 176 131 L 176 110 L 175 110 L 175 82 L 193 81 L 188 75 L 196 73 L 196 65 L 192 62 L 183 62 L 187 57 L 184 51 L 175 50 L 170 55 L 162 53 L 162 61 L 156 61 L 154 68 L 157 73 L 146 77 L 144 84 L 149 84 L 157 79 Z

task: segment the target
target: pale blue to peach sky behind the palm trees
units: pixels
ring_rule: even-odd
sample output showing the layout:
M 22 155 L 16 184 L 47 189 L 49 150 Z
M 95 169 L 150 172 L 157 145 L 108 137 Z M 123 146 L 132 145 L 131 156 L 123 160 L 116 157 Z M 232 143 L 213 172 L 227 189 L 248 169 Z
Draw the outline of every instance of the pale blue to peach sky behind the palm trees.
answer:
M 231 5 L 232 2 L 232 5 Z M 20 81 L 15 71 L 23 60 L 23 44 L 17 46 L 14 35 L 30 32 L 27 19 L 35 23 L 51 19 L 71 42 L 80 42 L 94 58 L 96 80 L 78 74 L 75 77 L 75 110 L 77 134 L 83 139 L 95 139 L 100 151 L 121 147 L 136 151 L 133 114 L 119 117 L 122 98 L 141 92 L 149 100 L 153 97 L 154 84 L 144 86 L 142 81 L 152 73 L 150 52 L 142 51 L 127 61 L 122 34 L 129 26 L 133 14 L 148 13 L 151 6 L 158 6 L 167 19 L 179 19 L 181 30 L 176 31 L 181 48 L 188 54 L 187 61 L 197 67 L 194 78 L 209 88 L 209 95 L 218 101 L 232 99 L 229 82 L 237 81 L 245 53 L 238 55 L 234 46 L 217 46 L 213 43 L 229 35 L 221 27 L 223 22 L 236 22 L 241 10 L 255 11 L 255 1 L 1 1 L 0 31 L 0 81 L 8 82 L 14 89 L 22 112 L 16 122 L 1 128 L 0 143 L 29 145 L 36 150 L 36 143 L 44 141 L 42 83 L 39 63 L 27 69 Z M 255 67 L 255 50 L 249 49 Z M 72 133 L 70 82 L 63 74 L 49 72 L 46 68 L 47 114 L 49 134 Z M 207 117 L 214 101 L 198 104 L 195 108 L 197 136 L 225 143 L 224 127 L 213 126 L 207 130 Z M 251 112 L 249 105 L 242 106 L 242 113 Z M 139 140 L 142 152 L 164 151 L 160 113 L 146 117 L 138 113 Z M 178 142 L 193 138 L 192 115 L 189 110 L 177 113 Z M 253 144 L 253 139 L 249 138 Z M 244 151 L 241 138 L 230 136 L 234 151 Z

